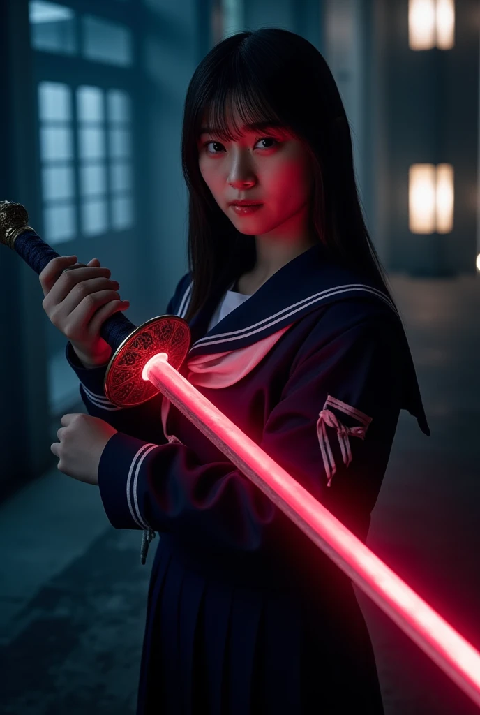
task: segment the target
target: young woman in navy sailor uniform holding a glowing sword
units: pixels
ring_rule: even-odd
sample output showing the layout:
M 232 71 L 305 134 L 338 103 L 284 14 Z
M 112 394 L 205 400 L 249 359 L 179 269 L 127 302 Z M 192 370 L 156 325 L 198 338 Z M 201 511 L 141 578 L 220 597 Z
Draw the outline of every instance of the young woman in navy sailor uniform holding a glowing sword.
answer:
M 365 541 L 400 410 L 429 428 L 319 51 L 276 28 L 221 41 L 189 84 L 181 151 L 189 272 L 166 307 L 191 327 L 181 373 Z M 100 295 L 95 271 L 51 290 Z M 109 403 L 106 365 L 73 342 L 91 417 L 52 450 L 97 457 L 91 475 L 59 468 L 98 483 L 115 528 L 160 537 L 137 713 L 383 713 L 349 578 L 161 395 Z

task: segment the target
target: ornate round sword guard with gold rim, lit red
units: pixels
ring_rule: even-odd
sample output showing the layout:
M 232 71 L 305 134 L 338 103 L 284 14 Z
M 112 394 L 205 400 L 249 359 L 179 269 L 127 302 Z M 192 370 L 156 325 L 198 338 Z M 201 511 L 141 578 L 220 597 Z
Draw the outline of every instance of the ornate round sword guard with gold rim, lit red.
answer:
M 147 320 L 117 347 L 106 369 L 104 389 L 110 402 L 119 407 L 141 405 L 159 390 L 141 373 L 158 352 L 166 352 L 169 364 L 178 370 L 190 347 L 188 322 L 178 315 L 161 315 Z

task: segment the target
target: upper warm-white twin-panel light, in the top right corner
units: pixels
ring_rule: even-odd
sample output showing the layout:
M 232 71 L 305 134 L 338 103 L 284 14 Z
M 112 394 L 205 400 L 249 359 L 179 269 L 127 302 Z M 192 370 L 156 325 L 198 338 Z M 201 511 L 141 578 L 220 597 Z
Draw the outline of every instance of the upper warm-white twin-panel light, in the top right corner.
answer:
M 451 49 L 454 44 L 454 0 L 409 0 L 410 49 Z

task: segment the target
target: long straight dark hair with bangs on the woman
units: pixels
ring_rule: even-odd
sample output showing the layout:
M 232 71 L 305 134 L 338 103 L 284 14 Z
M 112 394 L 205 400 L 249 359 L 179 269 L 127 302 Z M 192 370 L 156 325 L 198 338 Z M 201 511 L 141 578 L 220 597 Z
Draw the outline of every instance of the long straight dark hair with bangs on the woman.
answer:
M 328 64 L 304 37 L 277 27 L 237 32 L 201 61 L 186 92 L 181 159 L 189 190 L 189 321 L 214 282 L 226 288 L 256 260 L 254 236 L 239 232 L 216 203 L 199 169 L 202 119 L 234 141 L 242 122 L 280 122 L 312 159 L 310 226 L 332 256 L 361 270 L 391 296 L 366 230 L 354 174 L 349 122 Z M 229 126 L 233 130 L 229 131 Z

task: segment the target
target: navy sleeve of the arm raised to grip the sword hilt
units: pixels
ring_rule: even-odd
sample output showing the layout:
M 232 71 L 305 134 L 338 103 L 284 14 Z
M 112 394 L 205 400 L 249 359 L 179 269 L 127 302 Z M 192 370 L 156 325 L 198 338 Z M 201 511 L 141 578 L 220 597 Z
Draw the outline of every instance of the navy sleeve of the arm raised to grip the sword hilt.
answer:
M 174 295 L 166 307 L 165 315 L 176 315 L 174 310 L 180 305 L 187 277 L 188 274 L 182 276 L 176 285 Z M 79 378 L 81 400 L 89 415 L 105 420 L 126 435 L 158 444 L 166 443 L 160 420 L 161 394 L 155 395 L 151 400 L 147 400 L 142 405 L 136 405 L 136 407 L 118 407 L 111 403 L 105 395 L 104 378 L 108 363 L 99 368 L 84 368 L 70 341 L 66 344 L 65 354 L 67 362 Z

